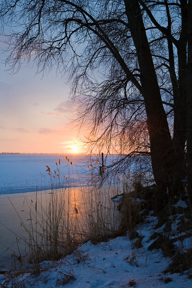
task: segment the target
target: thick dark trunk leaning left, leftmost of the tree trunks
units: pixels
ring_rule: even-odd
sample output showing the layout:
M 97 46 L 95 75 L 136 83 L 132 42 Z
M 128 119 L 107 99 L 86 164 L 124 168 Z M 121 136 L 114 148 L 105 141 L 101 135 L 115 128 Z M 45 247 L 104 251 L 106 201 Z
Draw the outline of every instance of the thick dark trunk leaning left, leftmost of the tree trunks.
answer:
M 147 114 L 150 153 L 157 192 L 174 190 L 175 151 L 161 100 L 155 67 L 137 0 L 124 0 L 131 36 L 137 51 L 140 81 Z M 158 195 L 160 196 L 160 195 Z

